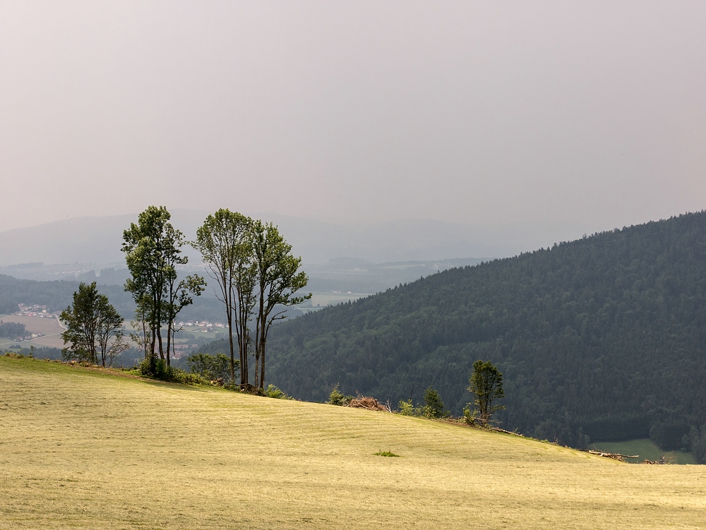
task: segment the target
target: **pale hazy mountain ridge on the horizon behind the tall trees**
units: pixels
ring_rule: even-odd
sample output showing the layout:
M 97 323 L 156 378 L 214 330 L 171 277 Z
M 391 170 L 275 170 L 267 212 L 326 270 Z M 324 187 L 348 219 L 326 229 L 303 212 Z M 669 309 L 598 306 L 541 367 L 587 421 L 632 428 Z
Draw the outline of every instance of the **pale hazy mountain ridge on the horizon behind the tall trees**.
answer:
M 172 222 L 187 239 L 211 213 L 174 209 Z M 473 227 L 432 219 L 409 219 L 369 225 L 346 226 L 302 217 L 251 213 L 252 217 L 279 225 L 294 253 L 305 264 L 327 263 L 332 258 L 359 258 L 374 263 L 438 260 L 473 256 L 513 255 L 527 248 L 580 235 L 582 227 L 546 227 L 516 224 L 507 227 Z M 85 263 L 99 268 L 124 263 L 122 234 L 136 222 L 137 214 L 74 217 L 36 227 L 0 232 L 0 267 L 21 263 Z M 553 234 L 549 236 L 547 234 Z M 189 249 L 193 258 L 195 251 Z

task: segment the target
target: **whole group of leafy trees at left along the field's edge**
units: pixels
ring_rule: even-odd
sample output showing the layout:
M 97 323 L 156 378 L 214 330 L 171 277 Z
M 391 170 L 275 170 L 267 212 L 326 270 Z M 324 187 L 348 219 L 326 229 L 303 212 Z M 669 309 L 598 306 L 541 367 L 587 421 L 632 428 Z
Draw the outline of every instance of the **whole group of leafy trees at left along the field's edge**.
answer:
M 143 348 L 143 368 L 150 375 L 169 372 L 177 315 L 201 295 L 206 285 L 200 275 L 179 276 L 179 266 L 188 263 L 182 248 L 189 242 L 172 226 L 170 218 L 166 207 L 150 206 L 123 234 L 122 251 L 131 275 L 125 290 L 136 303 L 133 327 L 138 332 L 131 337 Z M 306 274 L 299 271 L 301 258 L 292 255 L 292 246 L 274 224 L 223 209 L 205 219 L 196 241 L 190 244 L 201 251 L 218 286 L 216 296 L 225 304 L 230 383 L 236 384 L 238 369 L 241 387 L 265 393 L 265 347 L 270 327 L 285 318 L 287 307 L 311 298 L 311 294 L 297 294 L 307 282 Z M 110 366 L 112 359 L 128 347 L 123 318 L 107 296 L 98 293 L 95 282 L 79 285 L 73 293 L 73 304 L 60 318 L 67 327 L 62 333 L 67 345 L 65 359 Z M 162 336 L 164 326 L 166 340 Z M 234 335 L 239 359 L 234 357 Z M 253 385 L 249 383 L 250 356 L 255 360 Z M 190 366 L 204 377 L 224 379 L 224 358 L 195 356 Z

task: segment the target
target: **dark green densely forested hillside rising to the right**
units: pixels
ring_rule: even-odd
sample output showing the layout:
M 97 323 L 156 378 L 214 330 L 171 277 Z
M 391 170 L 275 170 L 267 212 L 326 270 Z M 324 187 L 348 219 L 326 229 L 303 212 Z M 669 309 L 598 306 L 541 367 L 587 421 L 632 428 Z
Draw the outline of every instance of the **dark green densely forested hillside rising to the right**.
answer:
M 706 423 L 706 212 L 441 272 L 276 326 L 268 380 L 323 401 L 333 385 L 455 414 L 477 359 L 505 375 L 503 426 L 582 446 Z M 587 438 L 590 437 L 590 438 Z

